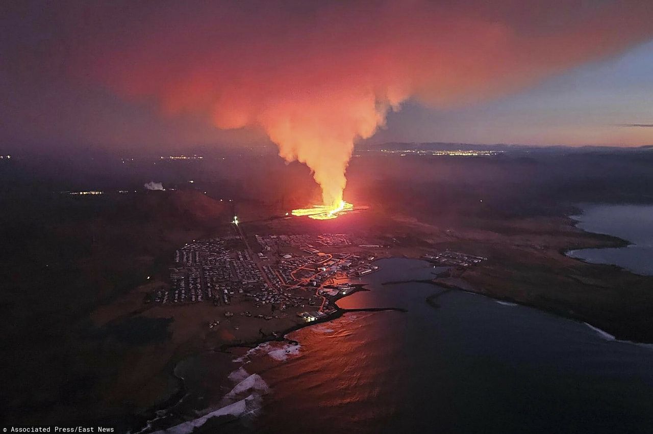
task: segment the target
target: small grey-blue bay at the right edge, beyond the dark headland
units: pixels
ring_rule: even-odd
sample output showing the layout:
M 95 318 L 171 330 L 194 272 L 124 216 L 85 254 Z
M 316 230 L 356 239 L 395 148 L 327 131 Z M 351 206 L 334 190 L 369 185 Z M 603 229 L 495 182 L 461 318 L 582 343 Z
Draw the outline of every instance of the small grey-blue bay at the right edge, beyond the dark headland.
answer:
M 578 227 L 631 242 L 624 248 L 571 250 L 567 255 L 599 264 L 614 264 L 638 274 L 653 274 L 653 205 L 586 205 Z

